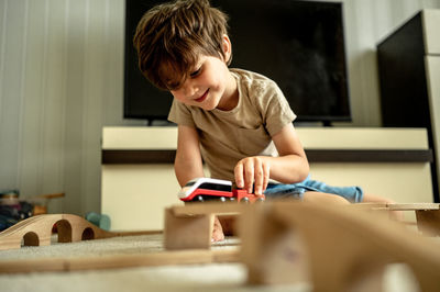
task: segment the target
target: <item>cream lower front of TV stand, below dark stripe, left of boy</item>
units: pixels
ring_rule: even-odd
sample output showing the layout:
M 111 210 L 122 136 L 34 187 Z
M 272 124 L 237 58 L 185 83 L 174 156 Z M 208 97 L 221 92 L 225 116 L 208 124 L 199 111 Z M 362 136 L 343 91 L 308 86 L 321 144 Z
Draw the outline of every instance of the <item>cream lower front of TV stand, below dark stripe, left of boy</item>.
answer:
M 164 228 L 164 210 L 183 204 L 173 165 L 103 165 L 101 212 L 112 231 Z

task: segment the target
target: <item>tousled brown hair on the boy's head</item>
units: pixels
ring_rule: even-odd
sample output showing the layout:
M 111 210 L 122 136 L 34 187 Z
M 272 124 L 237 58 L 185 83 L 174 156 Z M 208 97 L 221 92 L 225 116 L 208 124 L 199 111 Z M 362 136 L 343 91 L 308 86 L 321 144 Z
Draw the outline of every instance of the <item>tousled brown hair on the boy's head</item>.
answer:
M 226 59 L 222 37 L 228 16 L 209 0 L 176 0 L 148 10 L 138 24 L 133 44 L 139 68 L 156 87 L 180 87 L 200 54 Z M 231 58 L 227 60 L 228 65 Z M 169 76 L 173 78 L 169 79 Z

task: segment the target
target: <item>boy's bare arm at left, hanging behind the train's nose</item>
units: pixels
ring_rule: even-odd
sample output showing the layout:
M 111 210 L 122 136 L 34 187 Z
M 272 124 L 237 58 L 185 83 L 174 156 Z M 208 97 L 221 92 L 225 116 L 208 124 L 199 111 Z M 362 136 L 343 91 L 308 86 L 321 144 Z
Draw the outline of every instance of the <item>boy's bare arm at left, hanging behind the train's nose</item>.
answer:
M 199 136 L 196 128 L 178 126 L 177 151 L 174 170 L 180 187 L 194 178 L 205 177 L 200 155 Z

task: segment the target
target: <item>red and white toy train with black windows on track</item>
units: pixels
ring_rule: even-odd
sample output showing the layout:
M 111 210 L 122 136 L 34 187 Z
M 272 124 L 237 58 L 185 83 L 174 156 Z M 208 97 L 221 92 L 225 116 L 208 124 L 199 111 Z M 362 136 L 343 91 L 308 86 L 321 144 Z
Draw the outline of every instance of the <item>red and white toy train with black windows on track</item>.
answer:
M 264 194 L 256 195 L 248 193 L 242 189 L 232 190 L 232 182 L 221 179 L 198 178 L 188 181 L 178 193 L 178 198 L 184 202 L 204 201 L 237 201 L 237 202 L 262 202 Z

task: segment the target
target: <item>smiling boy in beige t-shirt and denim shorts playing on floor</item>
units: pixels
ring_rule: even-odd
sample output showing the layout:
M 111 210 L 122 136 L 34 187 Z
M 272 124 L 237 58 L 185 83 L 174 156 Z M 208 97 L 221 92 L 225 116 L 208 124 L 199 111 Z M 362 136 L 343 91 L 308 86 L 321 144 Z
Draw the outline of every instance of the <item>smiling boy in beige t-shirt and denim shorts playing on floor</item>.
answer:
M 296 115 L 274 81 L 228 68 L 232 45 L 227 15 L 208 0 L 154 7 L 140 21 L 133 43 L 144 76 L 174 96 L 168 120 L 178 125 L 175 172 L 180 186 L 205 177 L 204 159 L 212 178 L 267 198 L 388 202 L 358 187 L 333 188 L 309 179 L 293 126 Z M 212 239 L 223 239 L 218 220 Z

